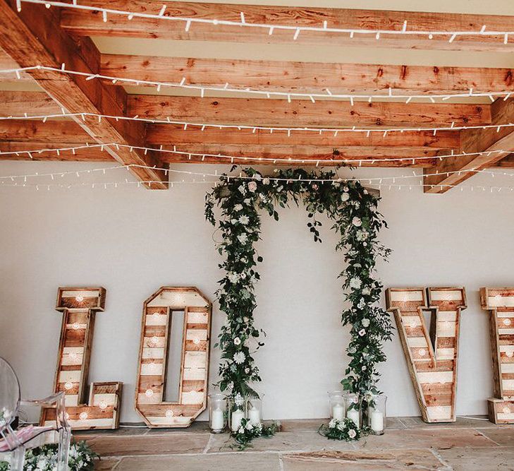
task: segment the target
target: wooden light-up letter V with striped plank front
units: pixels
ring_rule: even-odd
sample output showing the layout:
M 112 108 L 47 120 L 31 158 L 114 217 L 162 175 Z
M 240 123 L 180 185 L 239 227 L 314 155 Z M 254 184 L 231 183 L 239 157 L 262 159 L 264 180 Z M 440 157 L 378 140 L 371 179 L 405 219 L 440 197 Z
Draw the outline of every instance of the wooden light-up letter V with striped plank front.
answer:
M 427 302 L 428 299 L 428 302 Z M 424 422 L 455 422 L 460 311 L 464 288 L 389 288 L 417 402 Z M 429 328 L 424 311 L 431 313 Z

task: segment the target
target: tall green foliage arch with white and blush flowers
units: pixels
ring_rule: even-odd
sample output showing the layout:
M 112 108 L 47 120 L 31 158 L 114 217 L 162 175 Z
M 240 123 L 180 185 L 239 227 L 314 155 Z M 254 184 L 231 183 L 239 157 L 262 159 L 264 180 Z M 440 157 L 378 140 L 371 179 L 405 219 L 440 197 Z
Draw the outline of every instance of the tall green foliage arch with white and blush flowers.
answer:
M 218 251 L 224 261 L 219 268 L 225 273 L 216 292 L 227 316 L 215 345 L 222 351 L 218 386 L 233 397 L 258 396 L 250 383 L 261 381 L 252 354 L 264 345 L 261 335 L 265 335 L 254 326 L 253 318 L 257 306 L 254 288 L 260 278 L 256 267 L 262 262 L 254 247 L 261 231 L 259 211 L 279 220 L 276 205 L 284 208 L 291 200 L 305 205 L 314 242 L 322 242 L 319 214 L 329 217 L 340 237 L 336 250 L 345 251 L 347 264 L 340 277 L 344 299 L 350 303 L 342 322 L 350 326 L 351 335 L 346 350 L 350 363 L 341 383 L 352 393 L 377 394 L 376 366 L 386 359 L 382 345 L 391 340 L 392 332 L 390 317 L 377 305 L 382 285 L 375 278 L 375 266 L 377 259 L 385 260 L 390 253 L 378 240 L 380 229 L 387 227 L 377 210 L 379 197 L 359 181 L 338 179 L 334 172 L 303 169 L 275 170 L 271 177 L 263 177 L 257 170 L 245 168 L 240 178 L 224 174 L 221 183 L 207 193 L 205 217 L 221 231 Z M 218 221 L 215 205 L 221 209 Z

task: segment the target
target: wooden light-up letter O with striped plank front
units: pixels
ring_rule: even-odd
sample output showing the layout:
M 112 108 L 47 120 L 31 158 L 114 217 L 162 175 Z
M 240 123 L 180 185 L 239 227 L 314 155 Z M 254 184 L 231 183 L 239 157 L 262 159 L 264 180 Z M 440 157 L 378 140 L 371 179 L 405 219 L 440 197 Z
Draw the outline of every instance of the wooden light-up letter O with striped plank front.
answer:
M 161 287 L 145 301 L 135 409 L 148 427 L 189 427 L 205 409 L 211 308 L 195 287 Z M 179 392 L 165 402 L 173 311 L 184 312 Z

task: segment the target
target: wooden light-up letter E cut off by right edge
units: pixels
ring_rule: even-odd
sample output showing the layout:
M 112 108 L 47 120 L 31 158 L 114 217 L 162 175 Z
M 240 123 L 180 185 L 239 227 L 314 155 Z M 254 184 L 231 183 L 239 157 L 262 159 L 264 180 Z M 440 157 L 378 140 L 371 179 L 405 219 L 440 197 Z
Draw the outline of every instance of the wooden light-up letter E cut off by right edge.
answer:
M 489 420 L 514 424 L 514 287 L 480 288 L 482 309 L 489 311 L 494 398 L 487 400 Z

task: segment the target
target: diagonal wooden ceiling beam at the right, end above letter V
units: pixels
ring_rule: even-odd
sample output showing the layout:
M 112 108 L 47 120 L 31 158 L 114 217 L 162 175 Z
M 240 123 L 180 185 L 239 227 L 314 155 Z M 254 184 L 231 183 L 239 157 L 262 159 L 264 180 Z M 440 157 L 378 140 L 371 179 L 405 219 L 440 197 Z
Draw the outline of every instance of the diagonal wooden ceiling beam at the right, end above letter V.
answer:
M 514 122 L 514 100 L 496 100 L 491 105 L 492 124 L 508 124 Z M 459 153 L 484 153 L 480 155 L 464 155 L 450 157 L 437 162 L 427 174 L 437 175 L 424 177 L 425 193 L 446 193 L 468 178 L 475 175 L 470 170 L 494 167 L 508 153 L 498 150 L 514 151 L 514 127 L 496 129 L 466 129 L 460 135 L 461 148 Z M 489 153 L 489 154 L 488 154 Z

